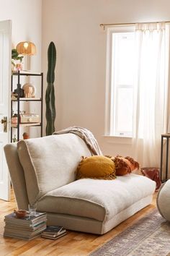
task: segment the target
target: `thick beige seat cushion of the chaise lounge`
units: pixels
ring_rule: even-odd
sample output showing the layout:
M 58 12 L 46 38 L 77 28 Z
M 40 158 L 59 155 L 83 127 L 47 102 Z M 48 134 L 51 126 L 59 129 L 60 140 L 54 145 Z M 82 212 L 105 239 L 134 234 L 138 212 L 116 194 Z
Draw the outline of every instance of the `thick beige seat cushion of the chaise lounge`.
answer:
M 79 179 L 48 192 L 37 202 L 37 210 L 107 221 L 152 195 L 155 188 L 155 182 L 137 174 L 114 180 Z

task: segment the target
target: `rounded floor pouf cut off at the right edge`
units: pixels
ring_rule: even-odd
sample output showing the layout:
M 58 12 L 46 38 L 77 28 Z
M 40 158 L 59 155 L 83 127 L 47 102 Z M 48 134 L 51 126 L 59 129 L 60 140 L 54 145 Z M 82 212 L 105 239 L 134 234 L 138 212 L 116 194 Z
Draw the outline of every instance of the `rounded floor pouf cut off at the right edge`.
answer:
M 170 179 L 158 190 L 156 203 L 161 216 L 170 221 Z

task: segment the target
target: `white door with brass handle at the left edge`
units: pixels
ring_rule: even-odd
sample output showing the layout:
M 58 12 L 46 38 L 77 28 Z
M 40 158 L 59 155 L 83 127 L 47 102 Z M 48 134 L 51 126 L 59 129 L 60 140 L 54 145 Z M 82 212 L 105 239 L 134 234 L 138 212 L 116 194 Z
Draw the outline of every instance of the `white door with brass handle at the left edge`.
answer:
M 10 200 L 4 145 L 10 142 L 12 22 L 0 21 L 0 198 Z

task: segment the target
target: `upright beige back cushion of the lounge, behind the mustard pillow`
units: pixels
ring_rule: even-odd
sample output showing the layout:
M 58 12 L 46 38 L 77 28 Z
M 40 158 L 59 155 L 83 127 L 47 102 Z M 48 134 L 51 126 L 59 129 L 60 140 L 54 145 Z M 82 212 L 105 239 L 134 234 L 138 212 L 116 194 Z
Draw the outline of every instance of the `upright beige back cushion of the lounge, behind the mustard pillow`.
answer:
M 17 151 L 30 203 L 73 182 L 81 155 L 91 155 L 84 140 L 73 134 L 21 140 Z

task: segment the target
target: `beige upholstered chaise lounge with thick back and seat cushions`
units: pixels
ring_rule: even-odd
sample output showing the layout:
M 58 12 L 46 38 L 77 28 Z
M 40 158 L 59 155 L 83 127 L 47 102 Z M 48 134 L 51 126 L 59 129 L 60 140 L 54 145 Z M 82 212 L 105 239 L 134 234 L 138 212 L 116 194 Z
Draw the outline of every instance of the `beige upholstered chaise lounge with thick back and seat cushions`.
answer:
M 73 134 L 51 135 L 4 148 L 18 208 L 37 202 L 49 225 L 104 234 L 149 205 L 156 183 L 128 174 L 115 180 L 75 180 L 81 155 L 91 155 Z

